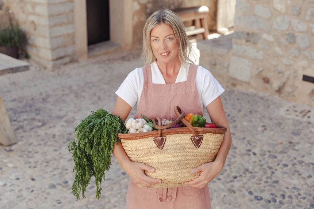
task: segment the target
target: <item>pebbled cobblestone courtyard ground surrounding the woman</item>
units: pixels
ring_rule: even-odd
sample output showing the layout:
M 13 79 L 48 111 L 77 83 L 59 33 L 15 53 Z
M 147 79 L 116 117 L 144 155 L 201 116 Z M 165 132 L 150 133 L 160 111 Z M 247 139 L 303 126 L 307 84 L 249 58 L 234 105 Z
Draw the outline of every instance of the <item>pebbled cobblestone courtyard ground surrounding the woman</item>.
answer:
M 93 181 L 76 200 L 67 146 L 91 110 L 112 110 L 116 89 L 142 66 L 138 57 L 135 50 L 53 70 L 31 63 L 30 71 L 0 76 L 19 141 L 0 146 L 0 208 L 125 208 L 128 176 L 114 157 L 100 201 Z M 221 97 L 232 147 L 208 184 L 212 208 L 314 208 L 314 108 L 229 88 Z

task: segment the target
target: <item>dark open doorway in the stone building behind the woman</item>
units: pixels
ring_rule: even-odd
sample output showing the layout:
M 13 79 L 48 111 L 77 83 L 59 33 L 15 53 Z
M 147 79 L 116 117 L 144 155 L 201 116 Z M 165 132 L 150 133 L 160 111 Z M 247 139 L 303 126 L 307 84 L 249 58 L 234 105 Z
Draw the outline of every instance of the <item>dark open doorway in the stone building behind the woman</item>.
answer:
M 109 40 L 109 0 L 86 0 L 86 10 L 88 45 Z

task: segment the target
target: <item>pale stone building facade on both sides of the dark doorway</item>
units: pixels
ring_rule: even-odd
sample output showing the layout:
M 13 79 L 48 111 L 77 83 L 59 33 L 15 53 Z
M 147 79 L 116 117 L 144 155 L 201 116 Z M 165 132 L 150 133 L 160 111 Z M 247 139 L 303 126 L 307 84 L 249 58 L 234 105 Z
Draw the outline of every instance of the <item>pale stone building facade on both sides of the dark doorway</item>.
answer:
M 27 33 L 30 58 L 48 67 L 89 57 L 85 0 L 0 0 Z M 142 41 L 147 16 L 158 8 L 206 5 L 216 28 L 216 0 L 110 0 L 110 41 L 132 49 Z M 130 9 L 131 8 L 131 9 Z

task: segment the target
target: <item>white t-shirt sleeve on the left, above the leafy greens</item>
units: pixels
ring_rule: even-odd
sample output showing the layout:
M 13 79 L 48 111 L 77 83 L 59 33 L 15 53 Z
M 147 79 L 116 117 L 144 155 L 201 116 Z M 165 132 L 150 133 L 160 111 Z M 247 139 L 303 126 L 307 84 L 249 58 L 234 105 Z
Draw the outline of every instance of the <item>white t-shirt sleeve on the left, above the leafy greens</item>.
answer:
M 121 86 L 115 92 L 131 107 L 133 107 L 138 100 L 138 71 L 135 69 L 131 71 L 122 82 Z

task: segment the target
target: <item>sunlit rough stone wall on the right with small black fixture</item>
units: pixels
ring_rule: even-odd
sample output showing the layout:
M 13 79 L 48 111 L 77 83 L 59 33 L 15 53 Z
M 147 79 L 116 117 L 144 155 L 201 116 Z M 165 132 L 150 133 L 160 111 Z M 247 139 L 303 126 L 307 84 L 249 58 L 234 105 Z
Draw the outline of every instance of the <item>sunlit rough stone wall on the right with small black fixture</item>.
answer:
M 314 105 L 314 0 L 237 0 L 229 75 Z

